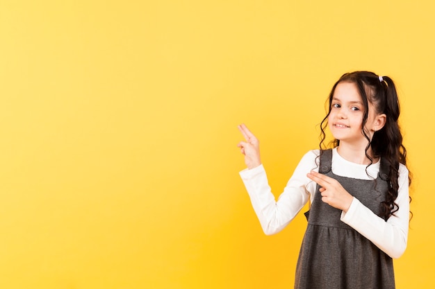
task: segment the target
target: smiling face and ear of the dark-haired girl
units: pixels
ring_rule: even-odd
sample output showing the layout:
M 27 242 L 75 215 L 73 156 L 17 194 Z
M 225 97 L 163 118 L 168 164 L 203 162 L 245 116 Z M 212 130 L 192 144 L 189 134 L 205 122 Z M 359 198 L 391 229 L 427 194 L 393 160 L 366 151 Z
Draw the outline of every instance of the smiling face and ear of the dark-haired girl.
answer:
M 340 144 L 345 142 L 367 146 L 368 140 L 361 132 L 364 110 L 356 85 L 353 82 L 338 83 L 332 97 L 328 125 L 332 135 L 340 141 Z M 368 102 L 368 119 L 364 129 L 370 139 L 376 130 L 376 116 L 375 107 Z

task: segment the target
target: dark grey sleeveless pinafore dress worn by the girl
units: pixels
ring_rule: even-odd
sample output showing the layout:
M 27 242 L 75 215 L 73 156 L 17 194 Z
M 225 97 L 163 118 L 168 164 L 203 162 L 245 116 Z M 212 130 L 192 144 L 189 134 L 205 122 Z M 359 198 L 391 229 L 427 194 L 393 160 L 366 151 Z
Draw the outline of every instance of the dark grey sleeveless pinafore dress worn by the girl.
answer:
M 340 177 L 331 171 L 332 151 L 320 155 L 319 172 L 337 179 L 351 195 L 381 214 L 388 183 L 385 164 L 377 179 Z M 297 261 L 296 289 L 393 289 L 393 260 L 352 227 L 340 221 L 341 210 L 322 202 L 317 186 L 306 213 L 308 225 Z

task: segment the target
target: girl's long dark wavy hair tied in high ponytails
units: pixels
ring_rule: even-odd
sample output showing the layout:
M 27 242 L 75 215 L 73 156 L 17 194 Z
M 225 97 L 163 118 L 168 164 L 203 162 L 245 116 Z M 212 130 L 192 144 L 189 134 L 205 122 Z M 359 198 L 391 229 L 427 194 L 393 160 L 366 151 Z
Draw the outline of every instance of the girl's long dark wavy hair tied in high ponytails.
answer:
M 372 157 L 368 155 L 368 150 L 371 148 L 374 157 L 381 157 L 386 161 L 388 166 L 388 193 L 386 200 L 381 202 L 383 207 L 383 217 L 385 219 L 394 215 L 399 209 L 395 203 L 397 191 L 399 189 L 399 164 L 407 164 L 407 150 L 402 144 L 402 133 L 400 132 L 397 119 L 400 114 L 400 105 L 397 98 L 397 91 L 394 82 L 388 76 L 377 76 L 370 71 L 354 71 L 345 73 L 334 84 L 329 94 L 329 108 L 327 116 L 320 123 L 320 149 L 325 148 L 324 141 L 326 139 L 325 130 L 327 128 L 327 119 L 331 112 L 331 102 L 334 96 L 334 91 L 340 82 L 352 82 L 359 90 L 359 94 L 363 101 L 364 113 L 361 132 L 368 140 L 366 147 L 366 156 L 372 164 Z M 364 130 L 368 118 L 368 103 L 371 103 L 378 114 L 386 115 L 386 123 L 381 130 L 375 132 L 370 141 L 370 137 Z M 338 139 L 331 141 L 331 145 L 335 148 L 340 144 Z M 368 166 L 370 166 L 370 164 Z M 411 184 L 411 173 L 409 173 L 409 184 Z

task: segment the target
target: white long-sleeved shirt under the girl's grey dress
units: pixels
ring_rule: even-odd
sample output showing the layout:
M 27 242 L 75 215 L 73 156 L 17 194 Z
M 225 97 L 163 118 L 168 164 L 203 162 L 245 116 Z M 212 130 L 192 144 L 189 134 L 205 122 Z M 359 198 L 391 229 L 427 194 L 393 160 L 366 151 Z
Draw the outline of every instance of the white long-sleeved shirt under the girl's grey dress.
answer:
M 284 192 L 276 201 L 263 165 L 240 172 L 240 177 L 249 194 L 252 207 L 261 227 L 267 235 L 276 234 L 295 218 L 306 202 L 313 201 L 316 184 L 306 176 L 311 170 L 318 171 L 316 157 L 319 150 L 307 152 L 288 180 Z M 331 170 L 335 175 L 356 179 L 375 179 L 379 173 L 380 161 L 366 166 L 354 164 L 340 157 L 337 149 L 332 150 Z M 392 258 L 399 258 L 407 247 L 409 227 L 409 179 L 408 169 L 400 164 L 399 190 L 396 204 L 399 210 L 388 220 L 380 218 L 354 198 L 347 213 L 341 213 L 340 220 L 365 236 L 379 249 Z

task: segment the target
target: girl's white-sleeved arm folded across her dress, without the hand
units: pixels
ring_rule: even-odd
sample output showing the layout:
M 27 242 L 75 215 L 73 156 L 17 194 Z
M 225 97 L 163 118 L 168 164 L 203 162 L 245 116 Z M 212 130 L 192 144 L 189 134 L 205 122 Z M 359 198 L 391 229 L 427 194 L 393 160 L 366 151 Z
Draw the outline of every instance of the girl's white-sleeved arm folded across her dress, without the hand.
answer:
M 349 209 L 341 214 L 341 220 L 391 258 L 399 258 L 407 247 L 409 227 L 409 183 L 408 170 L 404 165 L 399 168 L 399 191 L 396 204 L 399 210 L 385 221 L 355 199 Z

